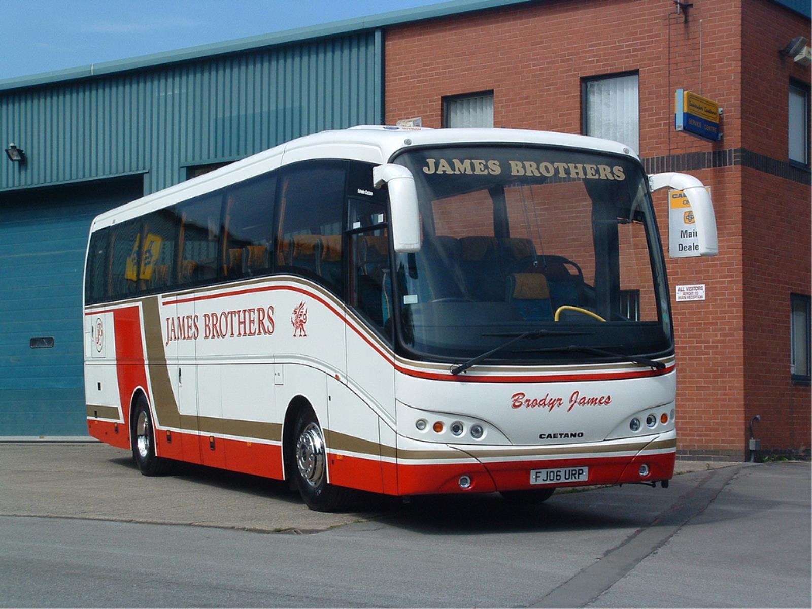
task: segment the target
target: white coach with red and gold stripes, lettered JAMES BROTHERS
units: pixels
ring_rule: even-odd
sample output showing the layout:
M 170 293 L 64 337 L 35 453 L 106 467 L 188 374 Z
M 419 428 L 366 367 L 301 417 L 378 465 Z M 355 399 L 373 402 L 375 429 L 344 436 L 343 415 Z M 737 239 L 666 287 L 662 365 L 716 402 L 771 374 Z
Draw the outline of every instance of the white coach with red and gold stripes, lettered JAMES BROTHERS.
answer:
M 174 461 L 348 489 L 667 485 L 676 365 L 650 192 L 711 199 L 622 144 L 353 127 L 279 145 L 94 219 L 89 434 Z

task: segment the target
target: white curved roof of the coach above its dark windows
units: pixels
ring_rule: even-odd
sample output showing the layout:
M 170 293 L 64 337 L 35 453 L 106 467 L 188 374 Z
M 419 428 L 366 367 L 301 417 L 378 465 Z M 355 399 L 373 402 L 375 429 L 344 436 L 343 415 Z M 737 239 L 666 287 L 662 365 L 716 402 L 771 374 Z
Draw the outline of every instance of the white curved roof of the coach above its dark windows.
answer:
M 561 146 L 598 153 L 621 154 L 639 161 L 637 153 L 620 142 L 568 133 L 525 129 L 429 129 L 359 125 L 349 129 L 323 131 L 299 137 L 197 178 L 153 192 L 146 197 L 98 215 L 93 220 L 91 230 L 108 227 L 115 222 L 134 218 L 154 209 L 161 209 L 166 205 L 198 197 L 206 192 L 218 190 L 229 184 L 235 184 L 295 162 L 318 158 L 340 158 L 381 164 L 388 162 L 396 152 L 412 147 L 488 143 Z

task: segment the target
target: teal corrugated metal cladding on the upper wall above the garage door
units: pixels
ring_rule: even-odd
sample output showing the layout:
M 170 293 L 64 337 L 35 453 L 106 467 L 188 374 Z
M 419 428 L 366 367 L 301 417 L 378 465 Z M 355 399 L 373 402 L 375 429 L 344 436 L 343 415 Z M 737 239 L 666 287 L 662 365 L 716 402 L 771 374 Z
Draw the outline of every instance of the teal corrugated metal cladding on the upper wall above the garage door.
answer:
M 380 30 L 0 91 L 0 191 L 145 173 L 145 194 L 187 167 L 294 137 L 382 122 Z

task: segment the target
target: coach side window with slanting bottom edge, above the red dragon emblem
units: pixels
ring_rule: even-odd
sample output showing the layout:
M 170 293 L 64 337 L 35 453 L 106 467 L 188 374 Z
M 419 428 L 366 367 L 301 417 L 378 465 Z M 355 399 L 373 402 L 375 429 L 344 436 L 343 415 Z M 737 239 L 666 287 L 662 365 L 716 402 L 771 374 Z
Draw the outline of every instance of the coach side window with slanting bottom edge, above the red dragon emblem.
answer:
M 341 226 L 347 163 L 302 162 L 282 175 L 275 257 L 343 295 Z

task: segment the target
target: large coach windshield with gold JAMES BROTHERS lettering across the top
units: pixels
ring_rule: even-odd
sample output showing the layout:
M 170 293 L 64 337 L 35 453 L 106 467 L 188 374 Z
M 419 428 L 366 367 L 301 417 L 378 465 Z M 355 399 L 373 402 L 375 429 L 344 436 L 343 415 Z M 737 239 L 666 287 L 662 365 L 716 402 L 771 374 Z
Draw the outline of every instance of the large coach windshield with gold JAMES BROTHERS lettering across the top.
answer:
M 487 365 L 672 352 L 639 163 L 531 145 L 408 149 L 393 162 L 414 175 L 421 209 L 421 250 L 395 260 L 399 342 L 412 356 L 495 349 Z

